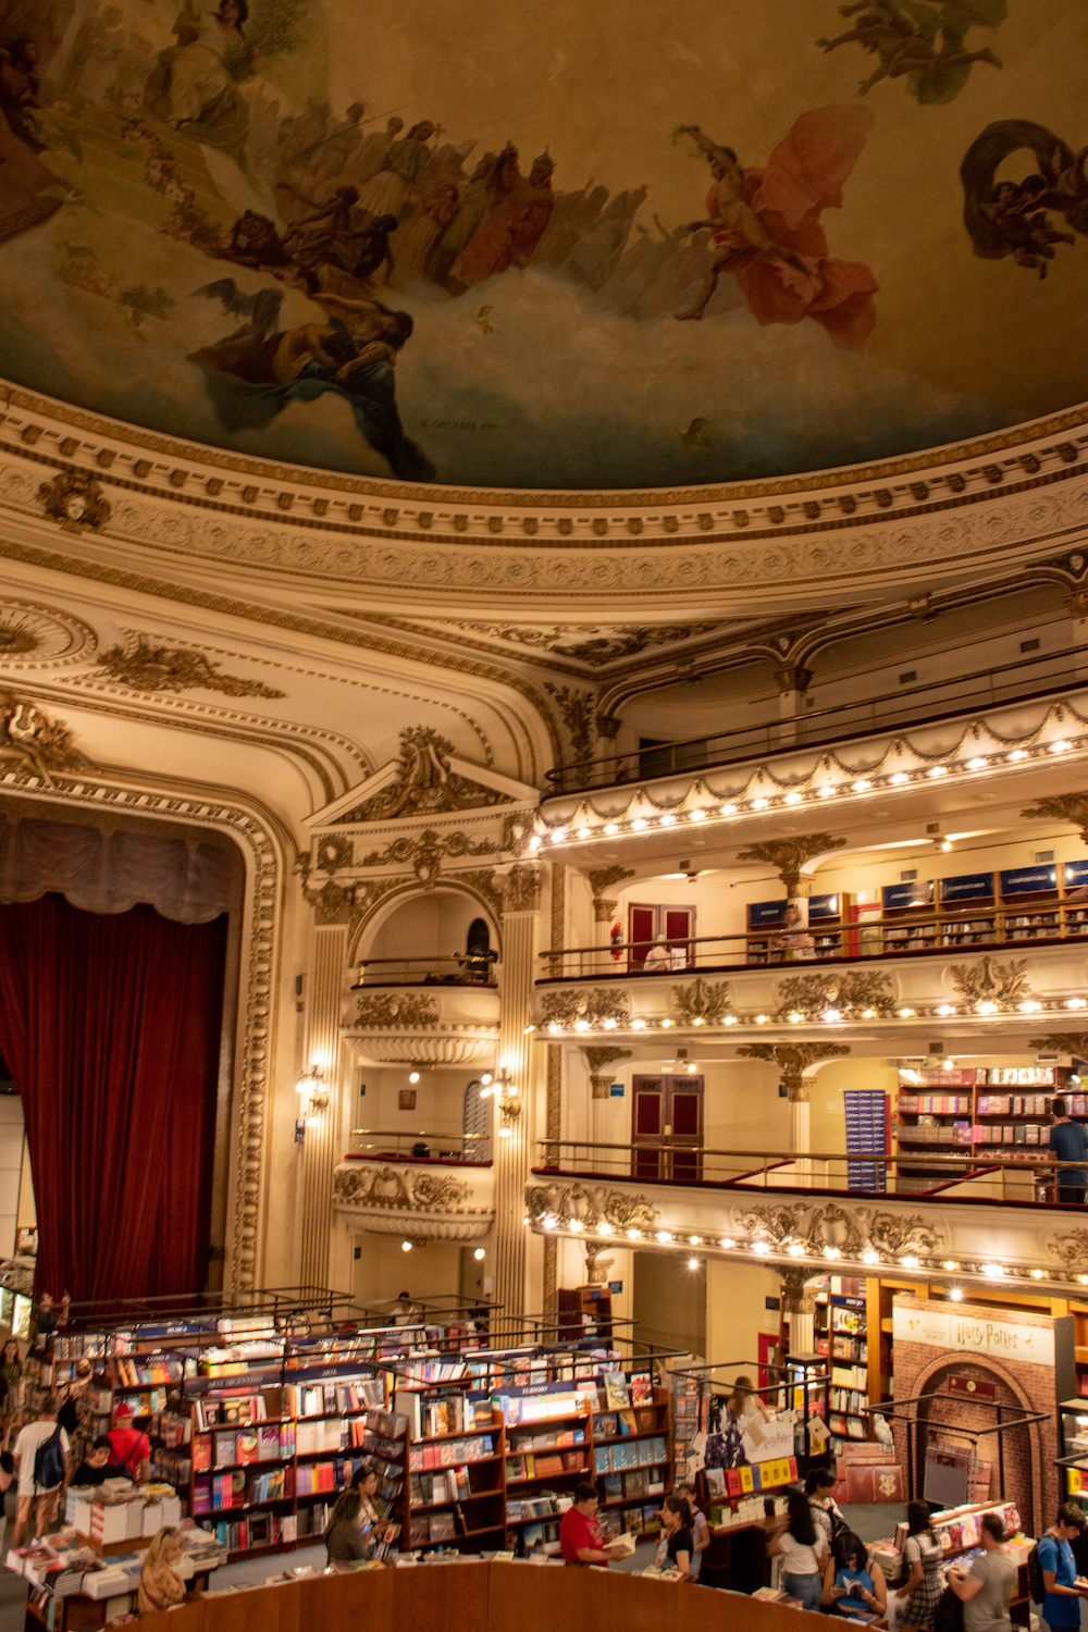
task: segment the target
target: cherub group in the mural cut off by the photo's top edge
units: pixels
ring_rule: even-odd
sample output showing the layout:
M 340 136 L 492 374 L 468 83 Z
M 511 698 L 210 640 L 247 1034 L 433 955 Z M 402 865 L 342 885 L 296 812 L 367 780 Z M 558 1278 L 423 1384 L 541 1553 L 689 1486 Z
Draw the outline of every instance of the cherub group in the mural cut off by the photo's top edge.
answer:
M 987 47 L 964 51 L 967 29 L 975 24 L 997 28 L 1005 21 L 1006 0 L 853 0 L 838 8 L 842 16 L 856 16 L 853 28 L 835 39 L 817 39 L 824 52 L 856 42 L 878 57 L 868 80 L 858 86 L 861 96 L 879 80 L 913 75 L 912 91 L 920 103 L 951 101 L 964 85 L 975 62 L 1000 69 L 998 57 Z M 940 49 L 936 36 L 941 36 Z

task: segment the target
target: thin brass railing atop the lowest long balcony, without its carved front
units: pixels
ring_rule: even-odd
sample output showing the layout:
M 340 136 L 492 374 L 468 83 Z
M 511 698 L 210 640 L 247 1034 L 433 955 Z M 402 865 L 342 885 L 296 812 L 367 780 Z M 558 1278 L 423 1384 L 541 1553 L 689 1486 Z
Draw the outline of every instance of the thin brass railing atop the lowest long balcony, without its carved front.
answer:
M 646 1139 L 590 1144 L 538 1139 L 533 1173 L 633 1180 L 716 1190 L 842 1191 L 843 1195 L 930 1195 L 946 1200 L 1052 1201 L 1054 1155 L 1044 1146 L 1019 1159 L 1002 1155 L 887 1155 L 881 1151 L 705 1151 Z M 1088 1162 L 1067 1162 L 1062 1170 Z

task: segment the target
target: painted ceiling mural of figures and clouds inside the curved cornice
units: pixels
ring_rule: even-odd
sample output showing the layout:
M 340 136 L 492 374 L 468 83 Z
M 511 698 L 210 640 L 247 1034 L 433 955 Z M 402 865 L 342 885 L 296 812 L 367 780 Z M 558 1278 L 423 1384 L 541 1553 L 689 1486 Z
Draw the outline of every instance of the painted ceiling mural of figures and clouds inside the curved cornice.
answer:
M 1016 424 L 1083 397 L 1086 54 L 1078 0 L 5 0 L 0 372 L 473 486 Z

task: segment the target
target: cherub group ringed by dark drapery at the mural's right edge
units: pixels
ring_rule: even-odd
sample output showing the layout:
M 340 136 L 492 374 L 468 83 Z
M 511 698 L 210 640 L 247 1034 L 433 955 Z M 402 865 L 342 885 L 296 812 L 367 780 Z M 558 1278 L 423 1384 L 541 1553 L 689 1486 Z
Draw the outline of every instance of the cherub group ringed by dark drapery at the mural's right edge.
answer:
M 998 166 L 1024 149 L 1037 170 L 1019 181 L 997 181 Z M 1046 126 L 1028 119 L 988 124 L 959 166 L 964 224 L 975 255 L 992 261 L 1011 255 L 1018 266 L 1046 277 L 1054 245 L 1077 243 L 1077 232 L 1088 235 L 1086 160 L 1088 149 L 1073 153 Z M 1073 233 L 1057 230 L 1047 211 L 1064 215 Z

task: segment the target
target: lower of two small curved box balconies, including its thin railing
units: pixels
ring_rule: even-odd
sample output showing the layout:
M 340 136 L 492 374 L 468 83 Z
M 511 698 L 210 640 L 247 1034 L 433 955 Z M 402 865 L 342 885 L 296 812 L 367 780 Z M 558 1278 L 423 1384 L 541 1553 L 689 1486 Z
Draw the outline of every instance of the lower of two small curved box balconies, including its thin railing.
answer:
M 476 1240 L 494 1224 L 489 1141 L 356 1129 L 333 1172 L 333 1208 L 378 1235 Z

